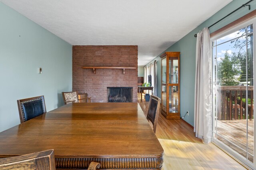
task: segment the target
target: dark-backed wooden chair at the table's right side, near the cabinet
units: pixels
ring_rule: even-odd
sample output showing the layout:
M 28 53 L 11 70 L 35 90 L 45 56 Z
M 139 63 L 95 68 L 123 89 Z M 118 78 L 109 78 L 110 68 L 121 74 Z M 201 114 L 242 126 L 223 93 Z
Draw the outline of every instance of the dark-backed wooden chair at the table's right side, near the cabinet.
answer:
M 159 115 L 160 101 L 160 98 L 152 95 L 150 96 L 147 119 L 152 122 L 154 133 L 156 133 L 156 124 Z

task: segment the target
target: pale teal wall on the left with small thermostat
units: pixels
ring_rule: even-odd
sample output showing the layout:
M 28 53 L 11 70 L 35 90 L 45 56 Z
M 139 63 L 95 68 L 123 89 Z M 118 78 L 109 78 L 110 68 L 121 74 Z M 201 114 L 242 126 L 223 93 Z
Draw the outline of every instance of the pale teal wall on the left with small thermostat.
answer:
M 18 99 L 44 95 L 50 111 L 71 90 L 72 45 L 0 2 L 0 131 L 20 123 Z

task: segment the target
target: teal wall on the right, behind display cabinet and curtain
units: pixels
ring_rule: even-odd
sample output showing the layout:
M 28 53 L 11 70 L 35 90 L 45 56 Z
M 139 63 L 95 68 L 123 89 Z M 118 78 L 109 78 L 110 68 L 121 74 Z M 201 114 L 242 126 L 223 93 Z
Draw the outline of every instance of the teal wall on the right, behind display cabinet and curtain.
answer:
M 189 116 L 185 117 L 190 125 L 194 126 L 194 89 L 195 89 L 195 70 L 196 70 L 196 38 L 194 34 L 198 33 L 204 27 L 209 27 L 216 21 L 220 20 L 236 8 L 245 4 L 248 0 L 233 0 L 206 20 L 204 23 L 196 27 L 190 33 L 185 35 L 182 39 L 176 42 L 174 45 L 166 49 L 166 51 L 180 51 L 180 112 L 182 117 L 184 117 L 186 111 L 189 111 Z M 210 28 L 210 33 L 220 29 L 221 27 L 227 25 L 228 23 L 244 16 L 245 14 L 252 12 L 256 9 L 256 1 L 250 3 L 251 10 L 248 7 L 244 7 L 231 16 L 228 16 L 224 20 L 220 21 L 218 24 Z M 164 51 L 163 51 L 164 52 Z M 157 63 L 157 80 L 158 80 L 158 96 L 161 96 L 161 62 L 160 57 L 156 57 Z M 152 63 L 152 60 L 150 63 Z M 148 63 L 149 64 L 149 63 Z M 148 65 L 146 64 L 146 65 Z

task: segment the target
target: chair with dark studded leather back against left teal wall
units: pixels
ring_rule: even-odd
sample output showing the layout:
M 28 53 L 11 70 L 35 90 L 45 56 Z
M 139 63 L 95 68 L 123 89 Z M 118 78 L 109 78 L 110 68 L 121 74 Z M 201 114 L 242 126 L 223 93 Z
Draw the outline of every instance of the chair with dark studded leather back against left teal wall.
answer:
M 20 123 L 46 113 L 44 96 L 17 100 Z

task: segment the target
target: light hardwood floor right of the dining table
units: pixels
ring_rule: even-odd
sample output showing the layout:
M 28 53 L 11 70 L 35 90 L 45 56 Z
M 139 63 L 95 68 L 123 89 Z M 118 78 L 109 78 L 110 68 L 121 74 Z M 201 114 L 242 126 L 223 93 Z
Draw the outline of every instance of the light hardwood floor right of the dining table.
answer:
M 149 102 L 138 103 L 146 115 Z M 162 170 L 244 170 L 242 165 L 216 147 L 194 137 L 192 127 L 182 119 L 166 119 L 159 113 L 156 136 L 164 149 Z

